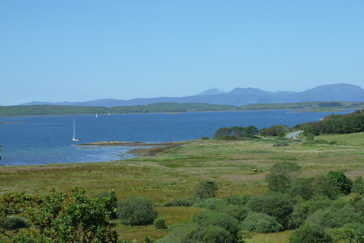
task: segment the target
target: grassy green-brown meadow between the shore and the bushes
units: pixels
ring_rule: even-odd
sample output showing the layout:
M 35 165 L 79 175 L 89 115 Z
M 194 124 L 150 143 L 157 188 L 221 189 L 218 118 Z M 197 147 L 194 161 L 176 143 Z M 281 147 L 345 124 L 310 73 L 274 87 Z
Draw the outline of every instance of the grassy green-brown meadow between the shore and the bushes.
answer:
M 88 195 L 96 197 L 100 192 L 114 189 L 119 200 L 132 195 L 153 199 L 158 204 L 156 210 L 159 215 L 165 217 L 167 225 L 171 225 L 190 220 L 203 209 L 162 207 L 162 203 L 191 195 L 191 189 L 201 180 L 213 180 L 219 187 L 217 197 L 222 198 L 234 193 L 262 195 L 267 191 L 265 175 L 269 167 L 280 161 L 297 162 L 302 167 L 303 177 L 324 175 L 330 170 L 345 172 L 351 179 L 363 175 L 364 139 L 359 137 L 363 134 L 356 137 L 346 135 L 346 140 L 331 139 L 334 136 L 316 137 L 345 141 L 340 144 L 305 145 L 285 141 L 289 145 L 281 147 L 273 147 L 277 141 L 270 139 L 193 140 L 179 142 L 181 146 L 156 156 L 144 156 L 142 162 L 139 157 L 112 162 L 49 164 L 41 166 L 41 169 L 35 169 L 40 166 L 6 166 L 0 170 L 0 193 L 22 191 L 43 197 L 52 187 L 58 192 L 66 192 L 71 187 L 82 186 Z M 49 169 L 44 169 L 47 167 Z M 142 242 L 145 232 L 156 239 L 168 235 L 167 230 L 156 230 L 153 225 L 131 227 L 118 224 L 116 230 L 120 238 L 137 239 L 139 242 Z M 291 233 L 253 234 L 243 240 L 247 243 L 288 242 Z

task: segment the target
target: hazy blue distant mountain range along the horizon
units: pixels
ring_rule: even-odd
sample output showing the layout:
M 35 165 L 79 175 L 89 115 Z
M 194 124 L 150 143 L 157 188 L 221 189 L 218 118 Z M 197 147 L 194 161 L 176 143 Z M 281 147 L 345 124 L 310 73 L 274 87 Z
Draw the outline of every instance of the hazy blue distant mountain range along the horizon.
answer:
M 38 102 L 32 101 L 20 105 L 74 105 L 74 106 L 134 106 L 151 103 L 209 103 L 217 105 L 248 105 L 254 103 L 293 103 L 305 101 L 364 101 L 364 89 L 357 85 L 335 83 L 321 85 L 302 92 L 277 91 L 269 92 L 254 88 L 235 88 L 229 92 L 210 89 L 198 95 L 185 97 L 158 97 L 137 99 L 95 99 L 85 102 Z

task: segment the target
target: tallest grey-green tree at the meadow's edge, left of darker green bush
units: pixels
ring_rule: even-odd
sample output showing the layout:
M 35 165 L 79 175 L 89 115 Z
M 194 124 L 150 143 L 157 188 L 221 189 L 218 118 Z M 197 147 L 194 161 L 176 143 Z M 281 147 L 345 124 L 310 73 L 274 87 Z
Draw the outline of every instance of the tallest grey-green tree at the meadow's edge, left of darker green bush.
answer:
M 265 176 L 269 189 L 275 192 L 285 192 L 301 173 L 301 167 L 296 163 L 278 162 L 274 164 L 269 174 Z

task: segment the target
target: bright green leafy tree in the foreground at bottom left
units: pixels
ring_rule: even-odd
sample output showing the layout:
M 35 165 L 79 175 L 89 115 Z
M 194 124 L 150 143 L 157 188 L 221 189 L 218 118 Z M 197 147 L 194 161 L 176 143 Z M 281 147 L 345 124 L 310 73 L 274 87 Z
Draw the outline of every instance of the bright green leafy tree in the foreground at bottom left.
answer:
M 60 243 L 116 243 L 118 234 L 112 230 L 116 224 L 110 222 L 108 211 L 115 200 L 113 191 L 101 202 L 85 194 L 86 191 L 80 187 L 71 188 L 67 194 L 56 194 L 52 188 L 41 210 L 29 211 L 29 218 L 39 230 L 39 237 Z M 39 237 L 31 236 L 37 242 Z

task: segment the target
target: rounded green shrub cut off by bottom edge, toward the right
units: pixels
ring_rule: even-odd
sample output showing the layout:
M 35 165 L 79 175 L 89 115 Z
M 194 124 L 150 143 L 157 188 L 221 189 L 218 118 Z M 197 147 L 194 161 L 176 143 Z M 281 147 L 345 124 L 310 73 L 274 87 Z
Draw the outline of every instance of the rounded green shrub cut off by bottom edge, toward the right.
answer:
M 332 243 L 332 237 L 317 224 L 304 224 L 289 236 L 289 243 Z

